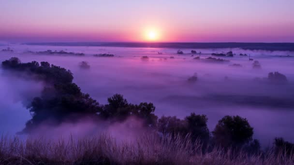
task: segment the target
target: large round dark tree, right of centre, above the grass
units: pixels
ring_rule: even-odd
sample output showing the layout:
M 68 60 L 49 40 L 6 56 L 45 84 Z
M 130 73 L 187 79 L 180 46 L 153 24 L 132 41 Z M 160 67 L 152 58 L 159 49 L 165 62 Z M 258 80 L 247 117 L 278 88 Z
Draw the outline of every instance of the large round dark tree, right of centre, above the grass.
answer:
M 240 116 L 225 116 L 216 125 L 213 140 L 223 147 L 241 147 L 250 142 L 253 128 L 246 118 Z

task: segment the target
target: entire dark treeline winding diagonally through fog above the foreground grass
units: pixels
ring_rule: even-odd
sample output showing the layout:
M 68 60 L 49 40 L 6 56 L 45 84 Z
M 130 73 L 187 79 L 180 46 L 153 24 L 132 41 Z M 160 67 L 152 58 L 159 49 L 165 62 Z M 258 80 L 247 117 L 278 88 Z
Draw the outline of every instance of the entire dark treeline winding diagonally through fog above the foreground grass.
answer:
M 154 114 L 155 106 L 152 103 L 131 104 L 118 94 L 109 97 L 107 104 L 101 105 L 88 94 L 82 93 L 73 83 L 73 73 L 70 70 L 48 62 L 41 62 L 41 65 L 36 61 L 21 63 L 18 58 L 12 57 L 2 62 L 2 68 L 32 74 L 46 84 L 41 96 L 33 98 L 28 105 L 32 118 L 21 133 L 37 130 L 44 122 L 58 125 L 64 121 L 77 122 L 84 117 L 94 121 L 119 122 L 135 116 L 151 131 L 173 137 L 189 137 L 191 141 L 200 141 L 204 149 L 219 146 L 223 149 L 242 149 L 248 153 L 260 152 L 259 141 L 252 138 L 253 127 L 246 118 L 240 116 L 224 116 L 210 132 L 206 115 L 191 113 L 184 119 L 176 116 L 158 118 Z M 289 154 L 294 151 L 294 144 L 283 138 L 276 138 L 274 147 L 276 151 L 284 150 Z

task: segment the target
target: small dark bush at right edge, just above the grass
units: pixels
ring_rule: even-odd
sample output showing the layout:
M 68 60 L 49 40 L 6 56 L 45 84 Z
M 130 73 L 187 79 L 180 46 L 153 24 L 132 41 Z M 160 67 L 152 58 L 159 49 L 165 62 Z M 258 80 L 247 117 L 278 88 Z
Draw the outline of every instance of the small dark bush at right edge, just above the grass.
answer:
M 283 138 L 275 138 L 274 141 L 275 151 L 278 153 L 279 151 L 285 152 L 288 155 L 294 154 L 294 144 L 288 141 L 285 141 Z

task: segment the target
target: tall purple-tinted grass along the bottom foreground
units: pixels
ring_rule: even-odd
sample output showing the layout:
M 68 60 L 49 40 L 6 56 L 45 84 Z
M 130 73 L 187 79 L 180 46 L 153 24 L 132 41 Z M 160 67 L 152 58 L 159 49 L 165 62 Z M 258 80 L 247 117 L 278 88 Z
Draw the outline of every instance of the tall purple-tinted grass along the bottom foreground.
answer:
M 32 138 L 2 136 L 0 164 L 157 164 L 157 165 L 293 165 L 294 155 L 269 150 L 248 155 L 214 148 L 203 151 L 189 137 L 145 135 L 137 140 L 117 140 L 107 133 L 87 138 Z

